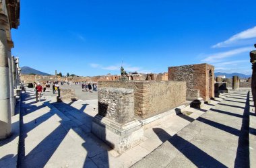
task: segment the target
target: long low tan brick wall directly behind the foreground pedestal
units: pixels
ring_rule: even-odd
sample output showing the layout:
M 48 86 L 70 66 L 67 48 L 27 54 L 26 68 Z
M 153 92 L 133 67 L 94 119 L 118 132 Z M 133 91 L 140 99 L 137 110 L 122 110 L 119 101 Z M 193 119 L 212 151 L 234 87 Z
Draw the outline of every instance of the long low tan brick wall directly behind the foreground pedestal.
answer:
M 186 101 L 184 81 L 101 81 L 98 86 L 133 89 L 134 112 L 142 118 L 166 112 Z

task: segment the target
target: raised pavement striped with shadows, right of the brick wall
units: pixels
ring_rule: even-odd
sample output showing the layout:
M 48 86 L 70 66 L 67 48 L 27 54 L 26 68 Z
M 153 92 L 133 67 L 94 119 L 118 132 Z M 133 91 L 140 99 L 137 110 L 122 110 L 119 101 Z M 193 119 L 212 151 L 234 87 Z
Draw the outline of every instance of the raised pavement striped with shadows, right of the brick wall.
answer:
M 244 89 L 225 95 L 224 100 L 195 120 L 181 116 L 193 122 L 174 136 L 154 128 L 154 132 L 164 132 L 168 138 L 160 137 L 164 143 L 133 167 L 249 167 L 252 96 Z

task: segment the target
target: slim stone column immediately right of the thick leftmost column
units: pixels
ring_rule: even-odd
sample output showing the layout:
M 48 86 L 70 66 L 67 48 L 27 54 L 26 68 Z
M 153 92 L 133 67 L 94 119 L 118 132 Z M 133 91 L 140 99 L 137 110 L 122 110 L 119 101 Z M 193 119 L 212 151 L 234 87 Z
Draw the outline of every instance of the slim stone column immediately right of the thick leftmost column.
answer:
M 11 102 L 11 116 L 14 116 L 15 113 L 15 97 L 13 92 L 13 80 L 12 80 L 12 66 L 11 66 L 11 48 L 13 48 L 13 42 L 8 42 L 8 65 L 9 65 L 9 87 L 10 87 L 10 102 Z

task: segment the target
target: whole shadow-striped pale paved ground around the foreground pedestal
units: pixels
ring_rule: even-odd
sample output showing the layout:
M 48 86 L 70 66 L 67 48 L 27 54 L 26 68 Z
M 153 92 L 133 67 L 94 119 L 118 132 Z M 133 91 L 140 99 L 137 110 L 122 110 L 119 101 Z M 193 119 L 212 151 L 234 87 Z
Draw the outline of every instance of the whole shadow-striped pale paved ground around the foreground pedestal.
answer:
M 227 96 L 145 130 L 143 142 L 119 155 L 90 132 L 97 99 L 55 103 L 55 97 L 43 95 L 36 103 L 28 89 L 22 93 L 18 166 L 234 167 L 241 160 L 246 165 L 247 134 L 240 130 L 247 129 L 247 91 Z

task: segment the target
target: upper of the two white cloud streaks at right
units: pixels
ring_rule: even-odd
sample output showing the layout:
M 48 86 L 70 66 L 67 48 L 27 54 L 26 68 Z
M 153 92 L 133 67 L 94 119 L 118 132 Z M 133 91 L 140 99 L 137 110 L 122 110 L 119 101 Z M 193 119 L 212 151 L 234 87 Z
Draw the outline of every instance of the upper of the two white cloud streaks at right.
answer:
M 256 26 L 254 28 L 247 29 L 243 32 L 240 32 L 238 34 L 235 34 L 234 36 L 228 38 L 228 40 L 224 42 L 219 42 L 218 44 L 215 44 L 212 46 L 212 48 L 220 48 L 220 47 L 226 47 L 230 44 L 234 44 L 240 40 L 247 40 L 251 38 L 256 38 Z

